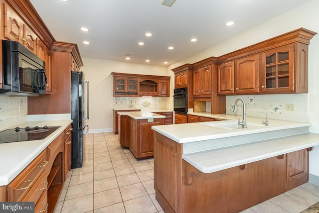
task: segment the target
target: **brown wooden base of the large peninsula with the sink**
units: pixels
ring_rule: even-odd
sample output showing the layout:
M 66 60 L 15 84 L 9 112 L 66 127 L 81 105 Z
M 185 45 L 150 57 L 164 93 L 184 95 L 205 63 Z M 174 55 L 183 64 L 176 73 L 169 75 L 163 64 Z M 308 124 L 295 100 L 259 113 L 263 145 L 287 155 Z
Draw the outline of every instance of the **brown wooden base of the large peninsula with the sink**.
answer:
M 155 132 L 156 199 L 165 213 L 241 212 L 307 183 L 310 150 L 203 173 L 182 159 L 182 144 Z

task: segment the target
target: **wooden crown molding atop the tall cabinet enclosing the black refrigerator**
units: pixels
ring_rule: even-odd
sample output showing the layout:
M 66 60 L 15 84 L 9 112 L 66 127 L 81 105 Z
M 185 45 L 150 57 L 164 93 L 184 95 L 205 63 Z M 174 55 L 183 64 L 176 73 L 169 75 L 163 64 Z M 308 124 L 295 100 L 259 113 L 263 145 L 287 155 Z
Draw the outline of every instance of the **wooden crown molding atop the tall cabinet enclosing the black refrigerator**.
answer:
M 83 61 L 82 61 L 80 51 L 79 51 L 77 44 L 56 41 L 53 43 L 51 50 L 52 51 L 59 51 L 59 52 L 70 52 L 72 54 L 72 56 L 74 57 L 79 68 L 81 68 L 83 66 Z

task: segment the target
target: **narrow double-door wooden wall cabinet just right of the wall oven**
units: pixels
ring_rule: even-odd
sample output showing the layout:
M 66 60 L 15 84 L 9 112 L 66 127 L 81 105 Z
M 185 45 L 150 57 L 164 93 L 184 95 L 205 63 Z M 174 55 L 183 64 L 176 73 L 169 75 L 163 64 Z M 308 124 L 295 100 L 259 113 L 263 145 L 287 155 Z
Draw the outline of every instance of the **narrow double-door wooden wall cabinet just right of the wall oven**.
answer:
M 209 96 L 212 90 L 212 67 L 206 66 L 193 70 L 193 95 Z

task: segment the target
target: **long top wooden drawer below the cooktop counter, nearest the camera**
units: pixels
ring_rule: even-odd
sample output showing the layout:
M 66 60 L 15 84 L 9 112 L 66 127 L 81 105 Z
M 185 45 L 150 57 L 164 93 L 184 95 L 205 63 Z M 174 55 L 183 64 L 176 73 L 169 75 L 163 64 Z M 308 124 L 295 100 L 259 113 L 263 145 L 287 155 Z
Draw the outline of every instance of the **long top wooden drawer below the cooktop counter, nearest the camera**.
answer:
M 41 152 L 7 187 L 8 202 L 20 202 L 46 171 L 46 150 Z

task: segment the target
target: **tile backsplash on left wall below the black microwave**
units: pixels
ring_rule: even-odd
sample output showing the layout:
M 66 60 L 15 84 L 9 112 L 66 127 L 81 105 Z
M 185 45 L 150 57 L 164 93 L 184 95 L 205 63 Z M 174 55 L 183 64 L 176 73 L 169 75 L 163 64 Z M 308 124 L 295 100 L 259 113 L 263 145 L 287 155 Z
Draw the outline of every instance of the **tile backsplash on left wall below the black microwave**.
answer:
M 0 97 L 0 121 L 27 115 L 27 97 Z

